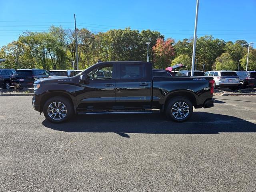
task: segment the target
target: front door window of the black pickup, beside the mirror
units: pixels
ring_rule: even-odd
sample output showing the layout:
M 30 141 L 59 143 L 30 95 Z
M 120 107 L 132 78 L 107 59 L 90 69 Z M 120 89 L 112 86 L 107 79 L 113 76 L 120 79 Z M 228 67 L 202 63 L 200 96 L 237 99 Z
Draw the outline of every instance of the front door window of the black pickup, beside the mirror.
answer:
M 113 70 L 113 65 L 101 66 L 100 68 L 96 68 L 87 74 L 87 78 L 90 80 L 106 80 L 112 79 L 112 73 L 110 71 Z

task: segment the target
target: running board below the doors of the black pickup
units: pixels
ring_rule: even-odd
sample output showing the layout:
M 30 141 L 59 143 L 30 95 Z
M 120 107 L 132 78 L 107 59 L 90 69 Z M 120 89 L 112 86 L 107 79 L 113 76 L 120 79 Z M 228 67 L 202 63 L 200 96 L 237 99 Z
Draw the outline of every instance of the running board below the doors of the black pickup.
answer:
M 159 113 L 160 110 L 136 110 L 136 111 L 80 111 L 78 115 L 95 115 L 95 114 L 152 114 Z

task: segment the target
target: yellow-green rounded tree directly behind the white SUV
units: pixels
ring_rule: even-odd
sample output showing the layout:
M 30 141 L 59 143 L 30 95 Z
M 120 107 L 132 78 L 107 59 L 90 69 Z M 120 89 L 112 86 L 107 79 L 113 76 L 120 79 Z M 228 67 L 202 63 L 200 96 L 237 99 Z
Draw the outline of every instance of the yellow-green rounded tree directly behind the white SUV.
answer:
M 229 53 L 223 53 L 216 59 L 216 70 L 237 70 L 237 68 Z

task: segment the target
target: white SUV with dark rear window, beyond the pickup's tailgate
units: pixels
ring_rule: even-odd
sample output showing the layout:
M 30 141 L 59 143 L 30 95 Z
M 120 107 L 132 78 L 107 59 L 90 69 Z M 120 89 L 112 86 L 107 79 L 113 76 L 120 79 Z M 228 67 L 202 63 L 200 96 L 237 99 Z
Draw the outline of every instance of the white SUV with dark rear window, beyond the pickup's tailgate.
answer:
M 204 76 L 214 78 L 214 88 L 239 88 L 239 77 L 235 71 L 208 71 Z

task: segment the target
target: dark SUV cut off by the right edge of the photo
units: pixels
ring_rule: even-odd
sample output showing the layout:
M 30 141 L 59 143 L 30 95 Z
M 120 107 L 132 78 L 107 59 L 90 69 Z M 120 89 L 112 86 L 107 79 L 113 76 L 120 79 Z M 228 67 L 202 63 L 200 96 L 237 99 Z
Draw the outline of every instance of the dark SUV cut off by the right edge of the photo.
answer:
M 244 88 L 256 87 L 256 71 L 236 71 L 236 74 Z

